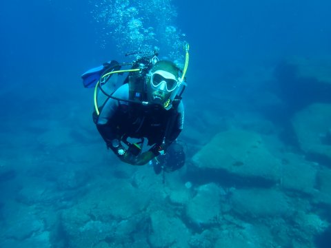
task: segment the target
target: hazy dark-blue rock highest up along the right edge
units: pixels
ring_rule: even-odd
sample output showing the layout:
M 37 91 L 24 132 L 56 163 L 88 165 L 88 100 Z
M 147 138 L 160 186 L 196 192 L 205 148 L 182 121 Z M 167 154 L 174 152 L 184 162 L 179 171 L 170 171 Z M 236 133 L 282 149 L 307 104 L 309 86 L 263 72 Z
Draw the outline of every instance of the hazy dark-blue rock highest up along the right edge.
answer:
M 274 76 L 279 97 L 287 104 L 282 116 L 292 116 L 313 103 L 330 103 L 330 65 L 330 59 L 322 61 L 303 57 L 288 58 L 279 63 Z

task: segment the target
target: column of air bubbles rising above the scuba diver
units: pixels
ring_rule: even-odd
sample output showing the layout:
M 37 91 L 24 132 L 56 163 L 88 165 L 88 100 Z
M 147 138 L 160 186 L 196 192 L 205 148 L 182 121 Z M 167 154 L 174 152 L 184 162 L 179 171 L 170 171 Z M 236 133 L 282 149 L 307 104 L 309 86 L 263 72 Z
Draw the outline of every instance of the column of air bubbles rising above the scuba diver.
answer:
M 174 19 L 177 10 L 171 0 L 101 0 L 90 1 L 94 21 L 100 23 L 99 41 L 106 48 L 109 41 L 117 45 L 119 55 L 139 52 L 150 54 L 156 47 L 161 56 L 183 66 L 185 35 Z

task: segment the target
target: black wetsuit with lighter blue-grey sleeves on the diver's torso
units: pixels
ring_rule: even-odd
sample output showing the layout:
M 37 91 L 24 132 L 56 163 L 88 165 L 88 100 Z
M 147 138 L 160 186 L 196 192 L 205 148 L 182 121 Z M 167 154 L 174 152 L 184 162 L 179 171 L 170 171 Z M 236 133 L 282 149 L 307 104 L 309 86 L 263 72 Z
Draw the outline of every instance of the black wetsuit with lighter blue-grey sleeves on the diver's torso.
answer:
M 121 85 L 114 93 L 118 99 L 128 100 L 128 83 Z M 101 107 L 96 120 L 97 129 L 108 147 L 112 148 L 112 141 L 128 136 L 131 138 L 148 138 L 148 145 L 170 145 L 181 130 L 183 130 L 183 103 L 165 110 L 159 105 L 142 105 L 108 99 Z

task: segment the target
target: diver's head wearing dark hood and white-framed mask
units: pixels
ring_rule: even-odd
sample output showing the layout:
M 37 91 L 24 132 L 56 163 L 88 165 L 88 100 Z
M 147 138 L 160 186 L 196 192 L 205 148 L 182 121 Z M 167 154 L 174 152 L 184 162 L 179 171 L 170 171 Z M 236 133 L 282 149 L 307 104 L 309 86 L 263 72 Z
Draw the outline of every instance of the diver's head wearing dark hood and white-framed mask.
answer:
M 165 110 L 169 110 L 181 87 L 179 68 L 170 61 L 158 61 L 148 75 L 148 101 L 162 105 Z

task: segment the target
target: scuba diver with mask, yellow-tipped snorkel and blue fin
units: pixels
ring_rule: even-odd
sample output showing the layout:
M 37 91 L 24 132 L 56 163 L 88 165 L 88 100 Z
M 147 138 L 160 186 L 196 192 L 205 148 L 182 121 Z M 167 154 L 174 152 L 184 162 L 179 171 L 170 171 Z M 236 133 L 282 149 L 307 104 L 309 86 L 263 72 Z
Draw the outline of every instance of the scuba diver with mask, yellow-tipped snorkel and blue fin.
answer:
M 186 85 L 188 45 L 185 52 L 183 71 L 171 61 L 159 60 L 154 52 L 132 63 L 110 61 L 82 75 L 85 87 L 94 86 L 97 130 L 121 161 L 150 163 L 156 174 L 163 171 L 163 175 L 183 167 L 185 153 L 177 137 L 183 130 L 181 94 Z M 121 70 L 128 65 L 129 70 Z M 114 76 L 126 72 L 128 76 L 118 87 Z

